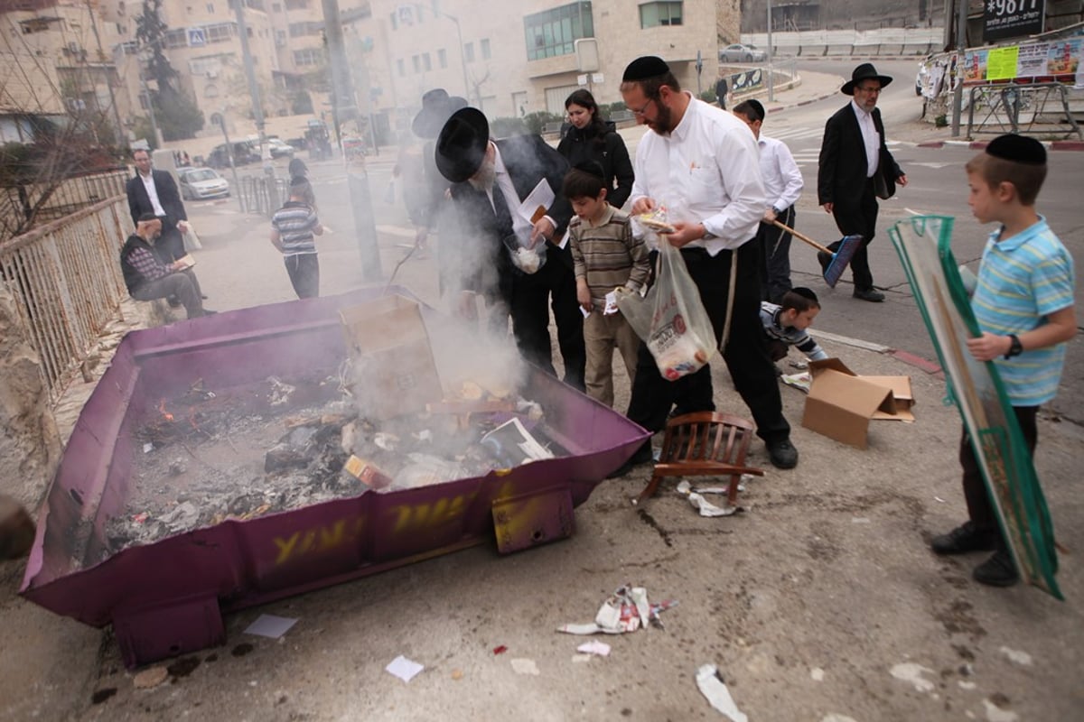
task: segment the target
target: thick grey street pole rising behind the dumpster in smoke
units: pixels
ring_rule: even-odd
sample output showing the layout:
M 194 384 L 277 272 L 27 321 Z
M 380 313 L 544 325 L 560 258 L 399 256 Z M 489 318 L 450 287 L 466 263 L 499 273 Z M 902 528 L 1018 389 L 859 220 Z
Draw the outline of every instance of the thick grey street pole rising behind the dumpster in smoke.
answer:
M 336 111 L 336 122 L 357 119 L 358 107 L 350 83 L 350 66 L 347 64 L 346 48 L 343 43 L 343 22 L 339 18 L 338 0 L 321 0 L 324 10 L 324 37 L 327 39 L 327 63 L 332 71 L 332 109 Z M 339 129 L 336 127 L 338 134 Z M 343 149 L 339 134 L 339 149 Z M 361 255 L 361 273 L 365 280 L 377 281 L 384 275 L 380 270 L 380 247 L 376 237 L 376 221 L 373 218 L 373 194 L 369 187 L 369 171 L 365 157 L 360 162 L 351 162 L 343 154 L 346 166 L 347 187 L 350 191 L 350 206 L 353 209 L 353 231 L 358 238 Z

